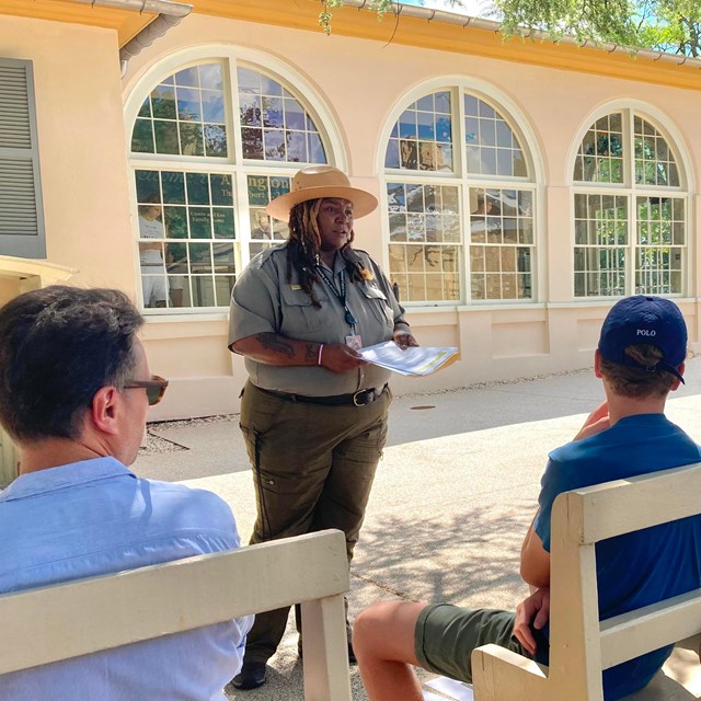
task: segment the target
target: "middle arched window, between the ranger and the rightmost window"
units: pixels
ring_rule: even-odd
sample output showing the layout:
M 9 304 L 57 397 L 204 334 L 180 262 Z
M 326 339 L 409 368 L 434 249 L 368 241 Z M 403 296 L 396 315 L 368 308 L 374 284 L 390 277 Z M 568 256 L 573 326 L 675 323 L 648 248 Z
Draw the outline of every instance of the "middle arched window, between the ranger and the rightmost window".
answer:
M 530 163 L 522 134 L 486 95 L 440 88 L 403 110 L 384 157 L 402 302 L 532 299 Z

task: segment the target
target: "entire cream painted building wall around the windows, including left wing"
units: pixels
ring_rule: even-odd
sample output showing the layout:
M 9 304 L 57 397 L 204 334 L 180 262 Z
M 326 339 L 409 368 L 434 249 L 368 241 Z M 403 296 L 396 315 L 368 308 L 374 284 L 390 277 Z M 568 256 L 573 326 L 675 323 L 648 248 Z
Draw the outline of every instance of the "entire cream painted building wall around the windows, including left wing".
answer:
M 572 297 L 571 158 L 597 110 L 633 101 L 624 104 L 648 108 L 670 128 L 682 150 L 696 154 L 688 173 L 689 297 L 679 301 L 692 345 L 698 345 L 699 92 L 200 15 L 189 15 L 131 59 L 122 81 L 116 38 L 110 31 L 3 18 L 0 45 L 3 55 L 34 61 L 49 261 L 79 268 L 73 278 L 78 284 L 114 285 L 131 297 L 137 255 L 127 162 L 131 125 L 124 124 L 124 108 L 141 77 L 174 54 L 230 45 L 277 57 L 327 106 L 345 151 L 338 156 L 348 163 L 354 184 L 378 196 L 380 135 L 390 116 L 395 118 L 397 110 L 406 105 L 411 91 L 428 81 L 459 78 L 508 104 L 535 151 L 542 186 L 538 300 L 410 309 L 424 345 L 458 345 L 462 360 L 429 378 L 395 376 L 392 384 L 400 394 L 591 365 L 610 302 Z M 356 231 L 358 244 L 387 266 L 381 214 L 361 219 Z M 223 312 L 149 315 L 143 340 L 151 367 L 171 379 L 151 418 L 238 411 L 245 372 L 242 359 L 226 348 L 226 336 Z

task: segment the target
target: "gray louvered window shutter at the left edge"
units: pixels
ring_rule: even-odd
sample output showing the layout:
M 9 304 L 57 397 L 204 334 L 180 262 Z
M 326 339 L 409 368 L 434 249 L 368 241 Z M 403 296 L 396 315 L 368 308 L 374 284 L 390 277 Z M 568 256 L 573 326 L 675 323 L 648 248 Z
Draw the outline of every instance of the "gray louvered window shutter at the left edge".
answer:
M 32 62 L 0 58 L 0 255 L 46 257 Z

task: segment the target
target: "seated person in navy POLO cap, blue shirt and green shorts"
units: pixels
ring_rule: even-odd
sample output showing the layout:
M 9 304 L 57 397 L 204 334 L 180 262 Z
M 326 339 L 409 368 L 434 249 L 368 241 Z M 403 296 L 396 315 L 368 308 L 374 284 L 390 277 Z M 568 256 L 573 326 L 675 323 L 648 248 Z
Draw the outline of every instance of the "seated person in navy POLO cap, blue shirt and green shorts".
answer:
M 521 549 L 521 576 L 536 588 L 516 613 L 445 604 L 381 601 L 355 624 L 354 647 L 371 701 L 420 701 L 412 669 L 471 681 L 472 651 L 496 643 L 548 660 L 550 517 L 555 497 L 610 480 L 698 462 L 701 448 L 664 415 L 682 382 L 687 329 L 677 306 L 630 297 L 609 312 L 595 355 L 607 401 L 573 443 L 553 450 L 541 481 L 539 509 Z M 701 586 L 701 518 L 688 518 L 597 544 L 601 620 Z M 604 673 L 604 696 L 619 699 L 644 687 L 673 646 Z

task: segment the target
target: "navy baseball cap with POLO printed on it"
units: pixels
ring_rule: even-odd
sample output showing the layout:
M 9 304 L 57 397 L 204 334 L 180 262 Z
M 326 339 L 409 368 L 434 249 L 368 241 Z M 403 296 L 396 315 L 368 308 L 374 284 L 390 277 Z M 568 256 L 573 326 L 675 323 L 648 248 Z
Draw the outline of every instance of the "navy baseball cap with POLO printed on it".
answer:
M 645 368 L 625 348 L 640 343 L 656 346 L 663 357 Z M 601 326 L 599 353 L 611 363 L 655 372 L 666 370 L 683 382 L 677 368 L 687 357 L 687 324 L 679 307 L 663 297 L 635 295 L 616 302 Z

